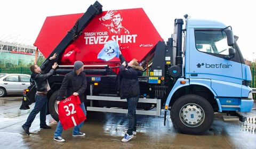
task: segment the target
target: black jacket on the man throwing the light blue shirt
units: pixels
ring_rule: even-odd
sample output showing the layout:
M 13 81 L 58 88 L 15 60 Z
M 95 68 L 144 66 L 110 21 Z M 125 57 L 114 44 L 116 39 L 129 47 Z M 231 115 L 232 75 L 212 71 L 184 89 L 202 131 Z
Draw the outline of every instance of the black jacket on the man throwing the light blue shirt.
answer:
M 121 63 L 125 61 L 123 55 L 120 55 Z M 120 97 L 121 99 L 137 97 L 140 95 L 140 86 L 138 76 L 142 76 L 142 71 L 135 70 L 132 67 L 119 67 L 120 75 Z

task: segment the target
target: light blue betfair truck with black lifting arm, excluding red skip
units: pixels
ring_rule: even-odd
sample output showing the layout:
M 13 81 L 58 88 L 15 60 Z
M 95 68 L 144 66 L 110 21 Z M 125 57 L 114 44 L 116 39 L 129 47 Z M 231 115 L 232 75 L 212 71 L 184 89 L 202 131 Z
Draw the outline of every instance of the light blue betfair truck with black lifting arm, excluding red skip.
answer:
M 92 18 L 101 12 L 99 2 L 91 5 L 50 55 L 62 55 Z M 164 111 L 165 124 L 166 114 L 170 111 L 173 126 L 180 133 L 203 134 L 212 125 L 214 112 L 251 111 L 252 76 L 231 26 L 190 19 L 188 15 L 184 17 L 174 20 L 171 38 L 167 42 L 158 42 L 149 53 L 150 60 L 142 64 L 146 71 L 139 77 L 141 95 L 137 114 L 159 116 Z M 47 96 L 49 113 L 58 120 L 58 90 L 63 74 L 72 71 L 73 65 L 62 65 L 60 58 L 55 62 L 59 63 L 59 68 L 49 79 L 51 90 Z M 113 69 L 117 68 L 85 65 L 87 111 L 127 113 L 125 100 L 121 100 L 116 91 L 118 74 Z M 51 65 L 47 69 L 51 69 Z M 29 88 L 20 109 L 28 109 L 34 102 L 35 86 Z

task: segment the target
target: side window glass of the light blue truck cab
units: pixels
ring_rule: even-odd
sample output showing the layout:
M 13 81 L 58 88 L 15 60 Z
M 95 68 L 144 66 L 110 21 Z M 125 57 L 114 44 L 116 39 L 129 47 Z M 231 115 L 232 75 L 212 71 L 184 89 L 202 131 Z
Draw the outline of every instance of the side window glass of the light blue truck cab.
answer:
M 227 35 L 225 31 L 195 31 L 198 51 L 228 55 Z

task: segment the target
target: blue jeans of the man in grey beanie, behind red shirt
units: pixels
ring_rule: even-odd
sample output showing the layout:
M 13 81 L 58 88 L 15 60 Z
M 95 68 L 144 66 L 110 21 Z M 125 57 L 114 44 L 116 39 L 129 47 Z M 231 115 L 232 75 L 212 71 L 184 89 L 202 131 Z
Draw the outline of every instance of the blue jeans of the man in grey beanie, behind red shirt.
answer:
M 82 110 L 83 110 L 83 112 L 84 112 L 84 115 L 85 115 L 85 117 L 86 117 L 86 110 L 85 110 L 84 103 L 82 103 L 82 104 L 80 105 L 80 107 L 82 108 Z M 78 134 L 80 133 L 80 128 L 83 126 L 83 124 L 84 124 L 84 121 L 81 122 L 81 123 L 79 123 L 79 125 L 77 125 L 77 126 L 75 126 L 75 127 L 73 128 L 73 135 L 78 135 Z M 55 133 L 54 133 L 54 137 L 59 137 L 59 136 L 61 136 L 62 131 L 63 131 L 63 127 L 62 127 L 62 125 L 61 125 L 61 123 L 60 123 L 60 121 L 59 121 L 59 122 L 58 122 L 58 125 L 57 125 L 57 128 L 56 128 L 56 130 L 55 130 Z

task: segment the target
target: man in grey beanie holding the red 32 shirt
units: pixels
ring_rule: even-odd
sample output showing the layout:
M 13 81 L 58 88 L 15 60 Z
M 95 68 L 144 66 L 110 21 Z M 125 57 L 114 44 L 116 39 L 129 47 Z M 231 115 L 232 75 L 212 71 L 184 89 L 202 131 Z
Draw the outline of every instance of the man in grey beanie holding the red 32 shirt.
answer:
M 87 87 L 87 81 L 85 77 L 84 70 L 84 64 L 81 61 L 76 61 L 74 63 L 74 71 L 69 72 L 65 75 L 60 90 L 59 90 L 59 96 L 57 98 L 57 104 L 60 103 L 60 101 L 64 100 L 66 97 L 69 97 L 70 95 L 79 96 L 81 100 L 81 108 L 86 116 L 85 106 L 84 106 L 84 93 Z M 65 96 L 65 93 L 66 96 Z M 79 123 L 79 125 L 75 126 L 73 129 L 73 137 L 79 137 L 79 136 L 85 136 L 85 133 L 80 132 L 80 128 L 83 126 L 84 122 Z M 65 139 L 61 137 L 63 131 L 63 127 L 58 122 L 57 128 L 54 133 L 54 140 L 57 142 L 65 142 Z

